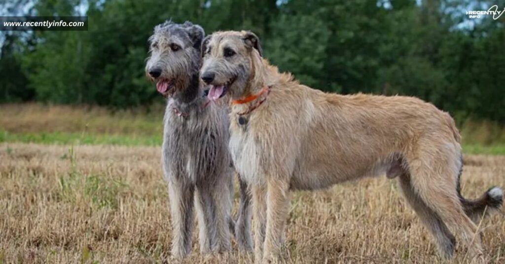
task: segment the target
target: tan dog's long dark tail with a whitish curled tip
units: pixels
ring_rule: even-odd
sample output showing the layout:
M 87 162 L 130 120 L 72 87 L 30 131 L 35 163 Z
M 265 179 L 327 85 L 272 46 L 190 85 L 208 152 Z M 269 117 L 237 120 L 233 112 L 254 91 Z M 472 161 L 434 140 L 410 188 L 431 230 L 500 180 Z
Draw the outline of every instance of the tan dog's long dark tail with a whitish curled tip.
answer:
M 460 169 L 460 173 L 458 175 L 458 185 L 456 186 L 456 190 L 458 191 L 458 196 L 460 197 L 465 213 L 474 222 L 477 222 L 480 218 L 488 215 L 490 211 L 500 208 L 503 203 L 503 190 L 499 187 L 491 187 L 478 199 L 466 199 L 463 195 L 461 195 L 460 185 L 461 173 L 463 171 L 463 158 L 461 164 L 462 168 Z

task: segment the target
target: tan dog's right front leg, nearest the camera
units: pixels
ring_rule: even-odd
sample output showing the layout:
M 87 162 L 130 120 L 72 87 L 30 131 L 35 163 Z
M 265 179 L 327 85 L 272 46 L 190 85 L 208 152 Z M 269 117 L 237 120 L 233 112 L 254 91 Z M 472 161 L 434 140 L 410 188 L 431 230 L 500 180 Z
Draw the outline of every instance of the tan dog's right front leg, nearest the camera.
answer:
M 284 226 L 289 212 L 289 201 L 289 181 L 278 178 L 269 179 L 264 263 L 280 260 Z

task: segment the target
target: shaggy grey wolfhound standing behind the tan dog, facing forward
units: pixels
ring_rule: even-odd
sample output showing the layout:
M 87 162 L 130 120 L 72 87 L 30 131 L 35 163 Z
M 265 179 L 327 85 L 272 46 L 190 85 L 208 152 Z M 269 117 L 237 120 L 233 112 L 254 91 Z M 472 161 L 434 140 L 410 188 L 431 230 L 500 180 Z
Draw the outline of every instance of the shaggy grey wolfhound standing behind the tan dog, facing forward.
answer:
M 200 251 L 231 249 L 230 216 L 233 169 L 227 149 L 227 109 L 210 103 L 200 85 L 200 45 L 204 30 L 190 22 L 167 21 L 149 38 L 146 75 L 166 96 L 162 162 L 168 181 L 173 227 L 172 257 L 191 251 L 193 203 L 199 227 Z M 250 210 L 246 185 L 241 184 L 241 207 L 235 231 L 237 243 L 251 250 Z

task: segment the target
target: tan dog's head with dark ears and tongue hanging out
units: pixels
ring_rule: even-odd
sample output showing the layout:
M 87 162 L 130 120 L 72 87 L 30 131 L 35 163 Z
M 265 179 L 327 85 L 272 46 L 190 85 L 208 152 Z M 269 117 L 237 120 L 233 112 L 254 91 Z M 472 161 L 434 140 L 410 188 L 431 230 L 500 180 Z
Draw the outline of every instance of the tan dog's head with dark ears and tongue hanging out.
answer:
M 242 97 L 261 64 L 260 40 L 250 31 L 213 33 L 202 41 L 201 52 L 204 62 L 200 78 L 210 85 L 208 96 L 212 100 L 226 94 Z

